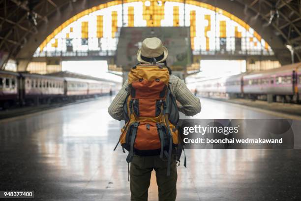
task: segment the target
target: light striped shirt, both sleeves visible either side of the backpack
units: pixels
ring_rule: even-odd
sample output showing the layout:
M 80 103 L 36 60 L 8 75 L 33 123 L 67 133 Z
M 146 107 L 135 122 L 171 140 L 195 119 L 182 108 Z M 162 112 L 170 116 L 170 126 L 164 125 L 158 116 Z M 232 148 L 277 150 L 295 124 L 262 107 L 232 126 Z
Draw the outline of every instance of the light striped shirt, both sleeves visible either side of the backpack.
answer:
M 123 120 L 122 106 L 127 96 L 127 86 L 128 82 L 126 80 L 108 108 L 109 114 L 119 121 Z M 169 78 L 169 86 L 171 94 L 181 103 L 179 111 L 186 116 L 193 116 L 201 111 L 200 99 L 190 92 L 183 80 L 177 76 L 171 75 Z

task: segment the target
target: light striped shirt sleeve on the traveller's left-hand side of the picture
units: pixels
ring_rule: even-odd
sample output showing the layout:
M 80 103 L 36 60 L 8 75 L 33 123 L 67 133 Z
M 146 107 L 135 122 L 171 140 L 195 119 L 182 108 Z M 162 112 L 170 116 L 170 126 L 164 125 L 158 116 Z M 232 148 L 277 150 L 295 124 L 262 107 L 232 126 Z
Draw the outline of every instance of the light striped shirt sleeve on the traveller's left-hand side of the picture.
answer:
M 123 102 L 126 99 L 127 96 L 127 91 L 126 88 L 128 86 L 127 80 L 124 82 L 122 88 L 114 98 L 114 100 L 111 102 L 108 112 L 116 120 L 123 120 L 123 114 L 122 114 L 122 107 L 123 107 Z

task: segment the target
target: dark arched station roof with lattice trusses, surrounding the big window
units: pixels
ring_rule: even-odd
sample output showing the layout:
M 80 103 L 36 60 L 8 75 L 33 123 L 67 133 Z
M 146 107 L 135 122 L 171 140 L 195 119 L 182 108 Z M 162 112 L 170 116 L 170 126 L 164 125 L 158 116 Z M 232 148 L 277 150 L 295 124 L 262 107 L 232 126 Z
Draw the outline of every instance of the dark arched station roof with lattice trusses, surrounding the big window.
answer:
M 198 1 L 223 9 L 250 25 L 269 43 L 281 64 L 291 62 L 287 45 L 295 48 L 295 62 L 301 61 L 299 0 Z M 28 59 L 62 23 L 110 2 L 112 0 L 0 0 L 0 51 L 8 52 L 10 58 Z

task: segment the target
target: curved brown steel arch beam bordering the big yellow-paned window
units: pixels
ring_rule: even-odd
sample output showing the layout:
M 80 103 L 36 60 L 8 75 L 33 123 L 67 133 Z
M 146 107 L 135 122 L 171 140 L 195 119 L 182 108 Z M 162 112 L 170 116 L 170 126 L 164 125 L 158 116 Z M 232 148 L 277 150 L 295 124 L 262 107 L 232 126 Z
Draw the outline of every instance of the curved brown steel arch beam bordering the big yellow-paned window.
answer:
M 111 0 L 103 0 L 101 3 L 106 3 Z M 250 23 L 250 17 L 255 16 L 256 10 L 249 6 L 247 14 L 244 13 L 244 4 L 241 3 L 241 0 L 198 0 L 200 2 L 208 3 L 213 6 L 219 7 L 223 10 L 226 10 L 229 13 L 234 14 L 240 19 L 244 20 L 248 23 L 257 33 L 259 33 L 262 38 L 264 38 L 273 49 L 276 58 L 279 60 L 281 64 L 290 63 L 290 53 L 285 47 L 285 41 L 281 40 L 281 38 L 275 34 L 276 28 L 273 26 L 263 27 L 263 24 L 266 23 L 266 20 L 263 18 L 263 14 L 261 14 L 261 18 L 258 18 L 255 22 Z M 67 2 L 68 5 L 68 1 Z M 66 6 L 60 4 L 57 5 L 58 8 L 53 9 L 51 12 L 47 13 L 45 16 L 48 18 L 48 23 L 45 24 L 44 21 L 38 24 L 37 34 L 31 34 L 28 38 L 27 44 L 23 46 L 23 48 L 18 52 L 17 59 L 30 59 L 38 48 L 38 46 L 43 42 L 43 40 L 52 33 L 58 26 L 60 26 L 64 21 L 73 17 L 77 13 L 86 10 L 90 7 L 96 6 L 100 4 L 99 0 L 77 0 L 76 2 L 72 2 L 73 6 L 70 9 L 70 6 Z M 256 4 L 256 1 L 254 2 Z M 58 17 L 58 12 L 60 9 L 61 15 Z

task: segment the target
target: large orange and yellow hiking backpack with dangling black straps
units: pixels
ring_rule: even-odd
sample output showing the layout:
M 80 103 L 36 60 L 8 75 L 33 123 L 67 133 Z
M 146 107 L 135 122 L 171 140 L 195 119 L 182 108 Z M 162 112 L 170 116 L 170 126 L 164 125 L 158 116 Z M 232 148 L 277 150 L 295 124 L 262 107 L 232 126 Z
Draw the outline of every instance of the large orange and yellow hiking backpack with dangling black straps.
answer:
M 182 140 L 178 136 L 179 111 L 170 93 L 168 68 L 156 64 L 132 67 L 126 90 L 128 94 L 123 103 L 125 125 L 119 142 L 123 152 L 124 149 L 129 152 L 127 163 L 132 161 L 134 154 L 159 155 L 162 160 L 167 158 L 167 175 L 170 175 L 172 151 L 182 149 L 179 143 Z M 181 151 L 177 150 L 177 153 L 177 162 L 180 162 Z

